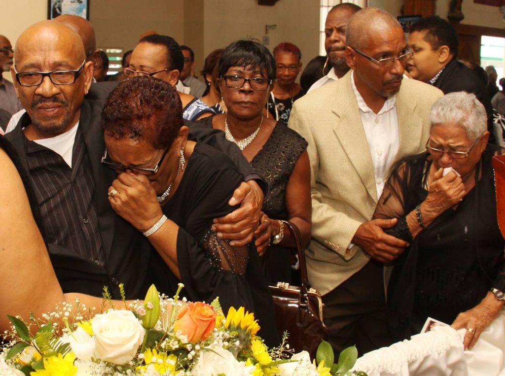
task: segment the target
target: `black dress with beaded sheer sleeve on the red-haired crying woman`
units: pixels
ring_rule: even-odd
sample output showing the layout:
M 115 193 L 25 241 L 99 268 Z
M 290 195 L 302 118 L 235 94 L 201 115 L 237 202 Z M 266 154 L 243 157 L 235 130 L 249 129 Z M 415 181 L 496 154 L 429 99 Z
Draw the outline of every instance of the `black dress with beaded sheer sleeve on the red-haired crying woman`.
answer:
M 214 218 L 234 209 L 228 200 L 242 181 L 228 157 L 197 143 L 177 191 L 162 210 L 179 226 L 177 261 L 184 284 L 181 296 L 208 303 L 219 297 L 225 314 L 230 306 L 245 307 L 259 319 L 259 335 L 275 345 L 278 337 L 272 296 L 261 278 L 254 244 L 233 248 L 211 230 Z M 160 291 L 175 292 L 181 281 L 157 256 L 153 264 L 156 286 Z

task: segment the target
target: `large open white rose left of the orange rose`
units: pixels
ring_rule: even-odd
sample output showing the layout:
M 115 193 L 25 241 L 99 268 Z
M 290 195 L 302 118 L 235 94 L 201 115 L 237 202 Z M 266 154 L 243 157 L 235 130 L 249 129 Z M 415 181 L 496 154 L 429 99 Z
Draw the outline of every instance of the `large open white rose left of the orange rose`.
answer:
M 97 314 L 91 322 L 96 338 L 97 358 L 114 364 L 125 364 L 133 359 L 144 340 L 144 328 L 133 312 L 109 309 Z

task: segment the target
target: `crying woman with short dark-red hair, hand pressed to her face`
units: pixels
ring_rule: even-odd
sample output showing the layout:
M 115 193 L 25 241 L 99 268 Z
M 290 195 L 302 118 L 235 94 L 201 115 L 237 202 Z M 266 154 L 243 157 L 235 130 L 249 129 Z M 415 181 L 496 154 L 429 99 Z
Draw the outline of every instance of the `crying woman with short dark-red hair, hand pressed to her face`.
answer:
M 219 296 L 225 312 L 244 306 L 275 343 L 272 297 L 254 247 L 232 247 L 211 229 L 214 218 L 233 210 L 228 199 L 243 177 L 217 149 L 188 141 L 181 108 L 175 89 L 155 78 L 130 78 L 110 94 L 102 113 L 104 162 L 118 177 L 109 201 L 158 251 L 155 275 L 166 278 L 157 284 L 182 282 L 190 300 Z

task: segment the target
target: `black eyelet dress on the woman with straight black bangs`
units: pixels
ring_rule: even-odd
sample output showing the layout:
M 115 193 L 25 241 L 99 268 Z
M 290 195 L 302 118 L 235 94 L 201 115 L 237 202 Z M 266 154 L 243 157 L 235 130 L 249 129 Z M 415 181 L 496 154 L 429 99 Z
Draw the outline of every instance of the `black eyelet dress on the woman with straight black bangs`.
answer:
M 251 166 L 268 183 L 262 210 L 269 218 L 287 220 L 286 187 L 294 165 L 307 149 L 307 141 L 285 124 L 278 122 Z M 262 259 L 263 271 L 271 285 L 291 283 L 291 249 L 270 244 Z

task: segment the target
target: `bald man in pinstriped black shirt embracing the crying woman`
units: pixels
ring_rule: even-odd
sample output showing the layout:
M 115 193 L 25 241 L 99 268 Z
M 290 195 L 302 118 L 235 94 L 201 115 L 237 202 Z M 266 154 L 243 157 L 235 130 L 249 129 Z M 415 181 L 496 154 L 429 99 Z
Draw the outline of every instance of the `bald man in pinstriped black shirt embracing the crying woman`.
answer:
M 120 298 L 123 282 L 128 298 L 144 296 L 163 276 L 151 272 L 155 251 L 149 242 L 110 206 L 108 188 L 116 174 L 100 163 L 103 102 L 85 98 L 93 63 L 86 61 L 81 38 L 62 23 L 36 23 L 20 35 L 11 73 L 26 113 L 6 138 L 33 187 L 38 225 L 63 291 L 101 296 L 107 286 Z M 221 148 L 246 177 L 230 199 L 240 207 L 216 226 L 232 245 L 249 243 L 263 201 L 254 181 L 259 177 L 224 134 L 195 125 L 189 137 Z

